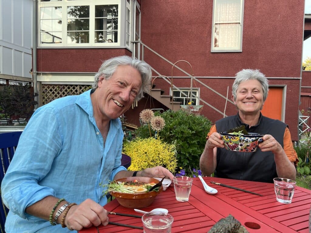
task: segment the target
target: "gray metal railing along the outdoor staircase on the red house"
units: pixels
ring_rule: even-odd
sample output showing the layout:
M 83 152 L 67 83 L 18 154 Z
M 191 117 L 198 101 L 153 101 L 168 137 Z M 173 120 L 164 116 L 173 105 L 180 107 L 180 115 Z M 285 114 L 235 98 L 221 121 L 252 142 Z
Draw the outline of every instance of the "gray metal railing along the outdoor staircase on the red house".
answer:
M 179 71 L 183 72 L 185 75 L 187 75 L 188 77 L 191 78 L 191 80 L 195 80 L 198 83 L 200 83 L 202 86 L 206 87 L 207 89 L 211 90 L 212 92 L 214 92 L 215 94 L 217 94 L 218 96 L 220 96 L 221 98 L 224 98 L 226 100 L 226 104 L 227 102 L 234 104 L 230 99 L 228 99 L 227 97 L 225 97 L 224 95 L 220 94 L 219 92 L 217 92 L 216 90 L 212 89 L 211 87 L 209 87 L 208 85 L 206 85 L 205 83 L 203 83 L 202 81 L 198 80 L 197 78 L 193 77 L 192 74 L 189 74 L 188 72 L 184 71 L 183 69 L 181 69 L 180 67 L 176 66 L 173 62 L 170 62 L 168 59 L 166 59 L 165 57 L 161 56 L 159 53 L 157 53 L 156 51 L 154 51 L 152 48 L 149 48 L 146 44 L 142 43 L 141 40 L 135 40 L 135 41 L 131 41 L 133 43 L 133 57 L 136 57 L 139 60 L 144 61 L 144 55 L 145 55 L 145 49 L 148 49 L 149 51 L 151 51 L 153 54 L 157 55 L 158 57 L 160 57 L 162 60 L 164 60 L 165 62 L 169 63 L 171 66 L 176 67 Z M 138 52 L 136 52 L 136 49 Z M 150 65 L 150 64 L 149 64 Z M 154 69 L 151 66 L 152 71 L 154 71 L 158 76 L 162 76 L 163 80 L 165 80 L 167 83 L 169 83 L 169 85 L 172 84 L 172 86 L 174 87 L 174 89 L 177 89 L 178 91 L 181 92 L 181 94 L 183 94 L 184 96 L 187 96 L 187 94 L 185 94 L 183 91 L 181 91 L 178 87 L 176 87 L 173 82 L 165 79 L 165 75 L 161 75 L 158 71 L 156 71 L 156 69 Z M 192 82 L 191 82 L 192 85 Z M 199 99 L 200 101 L 202 101 L 203 103 L 205 103 L 207 106 L 211 107 L 212 109 L 214 109 L 216 112 L 219 112 L 220 114 L 222 114 L 224 117 L 227 117 L 227 115 L 225 114 L 225 109 L 224 112 L 221 112 L 219 109 L 217 109 L 216 107 L 212 106 L 211 104 L 207 103 L 204 99 L 198 97 L 197 95 L 193 94 L 191 92 L 191 98 L 195 97 L 197 99 Z M 226 105 L 225 105 L 226 106 Z

